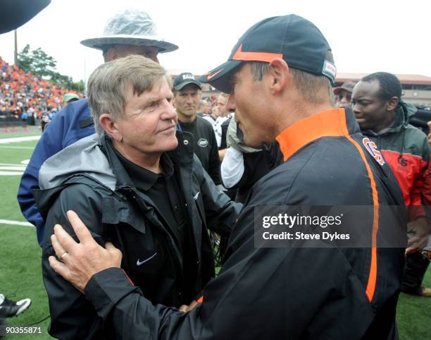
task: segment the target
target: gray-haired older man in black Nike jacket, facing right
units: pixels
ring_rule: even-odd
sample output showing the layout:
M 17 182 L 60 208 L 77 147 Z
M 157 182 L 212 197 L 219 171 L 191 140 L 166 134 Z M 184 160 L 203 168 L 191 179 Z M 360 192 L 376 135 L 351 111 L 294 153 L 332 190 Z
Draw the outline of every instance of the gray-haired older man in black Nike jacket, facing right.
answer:
M 124 254 L 121 267 L 153 303 L 180 307 L 214 277 L 207 228 L 227 236 L 241 205 L 220 193 L 176 130 L 166 71 L 143 56 L 110 61 L 89 78 L 97 135 L 48 159 L 35 197 L 46 218 L 43 276 L 59 339 L 111 339 L 82 293 L 49 266 L 53 227 L 77 212 L 97 242 Z M 111 243 L 113 245 L 111 245 Z M 58 254 L 63 262 L 68 253 Z M 120 265 L 120 263 L 118 263 Z

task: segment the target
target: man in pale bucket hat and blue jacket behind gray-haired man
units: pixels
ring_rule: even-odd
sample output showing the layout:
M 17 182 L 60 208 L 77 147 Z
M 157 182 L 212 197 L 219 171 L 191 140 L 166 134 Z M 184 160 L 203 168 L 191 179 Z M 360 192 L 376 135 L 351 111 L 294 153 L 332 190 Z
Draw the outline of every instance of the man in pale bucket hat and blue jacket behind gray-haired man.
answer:
M 115 14 L 106 23 L 103 35 L 82 40 L 81 44 L 101 50 L 105 62 L 129 54 L 140 54 L 158 62 L 158 53 L 178 49 L 177 45 L 158 36 L 156 25 L 146 12 L 135 9 Z M 37 143 L 20 181 L 18 203 L 27 221 L 36 226 L 39 245 L 42 245 L 45 221 L 32 195 L 32 189 L 39 186 L 39 169 L 46 159 L 93 133 L 88 99 L 81 99 L 58 112 Z

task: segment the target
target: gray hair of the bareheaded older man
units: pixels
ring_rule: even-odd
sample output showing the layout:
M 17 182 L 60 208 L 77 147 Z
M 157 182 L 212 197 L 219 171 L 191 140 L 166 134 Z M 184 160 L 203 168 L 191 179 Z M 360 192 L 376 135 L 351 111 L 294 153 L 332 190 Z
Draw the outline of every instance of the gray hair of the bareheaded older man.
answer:
M 127 90 L 133 95 L 151 91 L 161 78 L 170 84 L 165 69 L 144 56 L 132 55 L 102 64 L 88 80 L 88 102 L 98 135 L 105 135 L 99 123 L 101 114 L 110 114 L 113 121 L 124 115 Z

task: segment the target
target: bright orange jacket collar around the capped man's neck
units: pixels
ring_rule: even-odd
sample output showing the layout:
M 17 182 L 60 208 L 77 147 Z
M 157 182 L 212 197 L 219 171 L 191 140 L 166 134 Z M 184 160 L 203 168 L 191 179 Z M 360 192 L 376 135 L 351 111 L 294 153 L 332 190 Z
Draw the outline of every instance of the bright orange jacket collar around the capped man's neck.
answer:
M 302 119 L 277 135 L 283 159 L 287 159 L 302 147 L 323 137 L 342 137 L 360 132 L 351 109 L 329 109 Z

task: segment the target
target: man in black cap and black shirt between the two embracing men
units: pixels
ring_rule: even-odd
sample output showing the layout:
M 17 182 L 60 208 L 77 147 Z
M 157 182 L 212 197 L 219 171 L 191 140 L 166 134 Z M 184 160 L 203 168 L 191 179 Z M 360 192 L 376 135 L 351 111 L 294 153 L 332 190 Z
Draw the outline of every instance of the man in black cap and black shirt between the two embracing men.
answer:
M 187 142 L 192 143 L 194 153 L 202 166 L 215 185 L 218 185 L 220 184 L 220 159 L 213 126 L 197 115 L 201 90 L 201 83 L 192 73 L 181 73 L 175 77 L 173 94 L 178 123 L 182 131 L 192 133 L 185 138 Z

